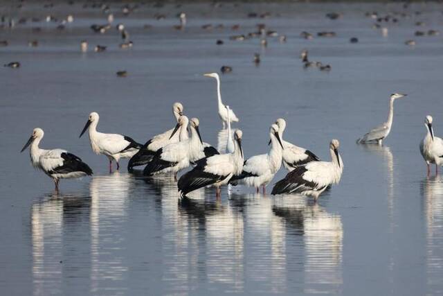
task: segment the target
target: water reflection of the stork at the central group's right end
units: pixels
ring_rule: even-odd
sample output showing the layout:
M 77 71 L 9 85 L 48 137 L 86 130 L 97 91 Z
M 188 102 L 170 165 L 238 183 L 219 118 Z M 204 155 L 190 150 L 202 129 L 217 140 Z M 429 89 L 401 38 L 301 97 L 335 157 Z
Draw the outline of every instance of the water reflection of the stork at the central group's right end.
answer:
M 284 231 L 300 236 L 304 254 L 305 293 L 341 293 L 343 285 L 343 225 L 341 217 L 328 214 L 318 203 L 300 195 L 275 198 L 273 214 Z

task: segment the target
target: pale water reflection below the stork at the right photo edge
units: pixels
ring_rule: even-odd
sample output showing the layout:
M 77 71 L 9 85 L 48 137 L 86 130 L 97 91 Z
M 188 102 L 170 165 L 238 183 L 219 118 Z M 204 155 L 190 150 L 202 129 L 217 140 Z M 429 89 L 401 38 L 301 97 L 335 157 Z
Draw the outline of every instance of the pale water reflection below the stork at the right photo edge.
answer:
M 426 217 L 427 285 L 428 290 L 437 291 L 443 284 L 443 177 L 437 175 L 424 179 L 420 192 Z

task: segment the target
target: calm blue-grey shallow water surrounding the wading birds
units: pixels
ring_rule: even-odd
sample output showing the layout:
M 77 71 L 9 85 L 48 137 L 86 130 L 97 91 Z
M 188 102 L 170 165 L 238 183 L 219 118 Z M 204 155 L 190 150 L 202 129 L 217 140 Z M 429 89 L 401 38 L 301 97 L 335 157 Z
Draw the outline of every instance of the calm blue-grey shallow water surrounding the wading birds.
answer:
M 9 4 L 8 4 L 9 5 Z M 6 14 L 57 17 L 74 11 L 63 32 L 56 24 L 3 29 L 0 62 L 0 290 L 7 295 L 441 295 L 443 293 L 443 179 L 426 178 L 419 141 L 426 114 L 443 130 L 440 92 L 442 37 L 415 37 L 416 30 L 443 30 L 441 6 L 415 4 L 188 4 L 181 8 L 142 7 L 127 25 L 134 48 L 118 49 L 114 28 L 105 35 L 88 26 L 105 22 L 97 10 L 31 6 Z M 12 6 L 11 6 L 12 7 Z M 111 6 L 117 10 L 120 6 Z M 69 9 L 69 10 L 68 10 Z M 235 10 L 233 10 L 235 9 Z M 173 16 L 188 12 L 183 32 Z M 271 10 L 269 19 L 246 13 Z M 388 37 L 371 28 L 365 11 L 424 11 L 388 24 Z M 228 13 L 230 11 L 235 11 Z M 343 11 L 331 21 L 326 12 Z M 167 19 L 152 16 L 166 13 Z M 280 16 L 276 16 L 280 14 Z M 414 26 L 415 21 L 427 26 Z M 284 33 L 269 38 L 228 40 L 255 31 L 264 22 Z M 240 24 L 204 31 L 202 24 Z M 152 28 L 143 29 L 144 24 Z M 42 26 L 40 35 L 31 27 Z M 300 31 L 336 31 L 334 38 L 298 37 Z M 359 37 L 350 44 L 350 37 Z M 28 40 L 38 39 L 37 48 Z M 80 40 L 90 44 L 80 53 Z M 225 44 L 216 46 L 215 40 Z M 413 48 L 404 41 L 415 39 Z M 96 44 L 108 45 L 93 53 Z M 298 53 L 332 65 L 324 73 L 304 70 Z M 253 53 L 261 53 L 259 67 Z M 341 183 L 318 203 L 296 196 L 256 195 L 233 187 L 215 199 L 213 189 L 179 201 L 169 177 L 145 180 L 125 169 L 107 173 L 78 134 L 89 112 L 100 114 L 99 130 L 121 132 L 138 141 L 172 128 L 170 108 L 181 101 L 188 116 L 200 119 L 205 141 L 218 143 L 215 81 L 201 76 L 223 64 L 221 92 L 244 132 L 246 156 L 269 148 L 269 125 L 287 120 L 284 139 L 329 159 L 328 143 L 341 141 L 345 170 Z M 127 78 L 117 78 L 126 69 Z M 386 120 L 392 92 L 409 94 L 395 102 L 394 125 L 383 146 L 357 146 L 355 140 Z M 31 168 L 19 150 L 35 127 L 43 128 L 44 148 L 66 148 L 82 157 L 94 175 L 62 181 L 61 193 Z M 282 169 L 274 181 L 284 176 Z M 271 191 L 268 186 L 267 191 Z

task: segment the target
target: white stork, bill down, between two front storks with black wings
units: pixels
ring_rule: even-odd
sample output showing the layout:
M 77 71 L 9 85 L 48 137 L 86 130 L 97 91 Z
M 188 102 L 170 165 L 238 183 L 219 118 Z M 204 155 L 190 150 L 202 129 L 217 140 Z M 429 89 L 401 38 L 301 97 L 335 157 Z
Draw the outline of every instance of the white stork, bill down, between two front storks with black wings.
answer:
M 242 182 L 247 186 L 254 186 L 259 192 L 260 186 L 265 186 L 271 182 L 275 173 L 282 166 L 283 145 L 278 134 L 278 125 L 273 124 L 269 128 L 271 138 L 271 150 L 268 154 L 255 155 L 244 162 L 243 171 L 231 179 L 231 184 Z

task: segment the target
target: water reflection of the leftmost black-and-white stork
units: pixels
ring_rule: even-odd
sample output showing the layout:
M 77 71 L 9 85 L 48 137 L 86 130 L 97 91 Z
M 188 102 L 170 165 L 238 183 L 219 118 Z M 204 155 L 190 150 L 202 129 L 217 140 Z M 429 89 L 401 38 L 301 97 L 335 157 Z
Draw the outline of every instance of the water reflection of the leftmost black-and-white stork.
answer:
M 51 193 L 39 198 L 31 207 L 30 230 L 33 254 L 33 290 L 35 295 L 61 293 L 67 252 L 75 252 L 72 241 L 87 238 L 82 217 L 89 215 L 91 198 L 85 193 Z M 75 263 L 74 263 L 75 265 Z M 77 268 L 78 266 L 75 266 Z M 69 275 L 68 275 L 69 276 Z

